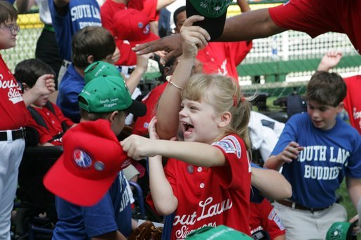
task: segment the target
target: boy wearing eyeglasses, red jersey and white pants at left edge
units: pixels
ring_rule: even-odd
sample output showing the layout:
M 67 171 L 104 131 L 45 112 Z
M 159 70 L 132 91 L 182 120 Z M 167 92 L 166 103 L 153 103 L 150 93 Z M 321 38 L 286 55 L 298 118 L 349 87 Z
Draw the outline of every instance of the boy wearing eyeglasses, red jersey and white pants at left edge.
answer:
M 7 1 L 0 1 L 0 50 L 13 48 L 19 26 L 18 13 Z M 0 55 L 0 239 L 10 239 L 11 211 L 18 185 L 18 167 L 25 148 L 27 106 L 55 90 L 54 76 L 38 78 L 32 90 L 22 94 Z

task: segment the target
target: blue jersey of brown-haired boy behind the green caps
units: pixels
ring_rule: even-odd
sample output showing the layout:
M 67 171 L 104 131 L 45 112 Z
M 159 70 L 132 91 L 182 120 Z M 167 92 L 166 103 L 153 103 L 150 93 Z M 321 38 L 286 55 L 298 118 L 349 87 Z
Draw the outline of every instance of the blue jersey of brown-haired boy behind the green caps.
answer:
M 56 104 L 64 116 L 73 122 L 80 120 L 78 96 L 84 85 L 84 78 L 75 70 L 74 65 L 70 64 L 60 82 Z

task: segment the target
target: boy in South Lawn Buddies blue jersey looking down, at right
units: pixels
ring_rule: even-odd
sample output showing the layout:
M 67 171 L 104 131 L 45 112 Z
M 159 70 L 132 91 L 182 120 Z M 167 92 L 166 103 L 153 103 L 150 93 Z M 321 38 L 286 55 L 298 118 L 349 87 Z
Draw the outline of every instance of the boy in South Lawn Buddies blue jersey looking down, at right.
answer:
M 292 185 L 292 197 L 275 203 L 286 239 L 325 239 L 346 210 L 336 204 L 336 190 L 346 176 L 354 206 L 361 196 L 361 139 L 337 117 L 346 84 L 337 73 L 318 71 L 307 85 L 307 112 L 292 116 L 265 167 L 280 169 Z

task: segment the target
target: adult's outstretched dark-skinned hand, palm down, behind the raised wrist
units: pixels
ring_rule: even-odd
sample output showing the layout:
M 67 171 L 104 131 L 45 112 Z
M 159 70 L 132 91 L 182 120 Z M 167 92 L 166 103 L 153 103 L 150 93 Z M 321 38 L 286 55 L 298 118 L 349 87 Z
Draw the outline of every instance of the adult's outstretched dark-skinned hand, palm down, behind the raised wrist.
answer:
M 173 57 L 179 57 L 182 55 L 182 41 L 180 34 L 173 34 L 170 36 L 165 36 L 156 41 L 151 41 L 148 43 L 143 43 L 132 48 L 137 55 L 144 55 L 149 52 L 156 52 L 164 50 L 167 52 L 165 55 L 161 56 L 161 64 L 165 64 Z

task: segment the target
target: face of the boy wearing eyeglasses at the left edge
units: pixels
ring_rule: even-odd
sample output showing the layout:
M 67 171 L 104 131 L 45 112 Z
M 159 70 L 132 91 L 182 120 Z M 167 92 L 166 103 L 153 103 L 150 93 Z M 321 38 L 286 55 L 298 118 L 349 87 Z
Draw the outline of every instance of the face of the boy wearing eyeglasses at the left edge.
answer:
M 17 26 L 15 20 L 7 20 L 0 24 L 0 49 L 15 47 L 16 36 L 18 35 Z

